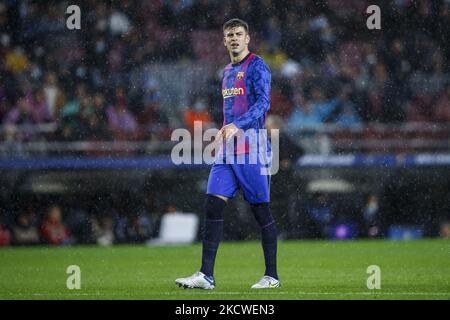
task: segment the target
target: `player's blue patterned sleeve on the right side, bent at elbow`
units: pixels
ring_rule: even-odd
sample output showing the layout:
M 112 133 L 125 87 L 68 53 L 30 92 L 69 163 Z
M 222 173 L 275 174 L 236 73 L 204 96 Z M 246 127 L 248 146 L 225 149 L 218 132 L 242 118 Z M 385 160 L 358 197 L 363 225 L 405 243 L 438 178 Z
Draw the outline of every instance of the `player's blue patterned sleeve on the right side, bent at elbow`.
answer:
M 269 67 L 263 60 L 256 61 L 250 76 L 255 89 L 256 102 L 250 105 L 248 110 L 234 121 L 236 127 L 244 131 L 250 128 L 253 121 L 264 116 L 270 109 L 272 75 Z

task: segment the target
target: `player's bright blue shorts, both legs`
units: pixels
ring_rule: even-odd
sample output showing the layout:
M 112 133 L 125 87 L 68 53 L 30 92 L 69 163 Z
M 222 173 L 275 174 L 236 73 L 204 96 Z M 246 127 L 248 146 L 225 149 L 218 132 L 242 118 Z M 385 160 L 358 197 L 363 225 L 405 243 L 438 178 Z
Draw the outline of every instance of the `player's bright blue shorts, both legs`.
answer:
M 244 194 L 244 199 L 251 204 L 270 202 L 270 175 L 262 174 L 269 165 L 248 162 L 248 154 L 245 155 L 245 164 L 234 161 L 232 164 L 214 163 L 208 179 L 207 194 L 215 194 L 227 198 L 236 196 L 239 189 Z

